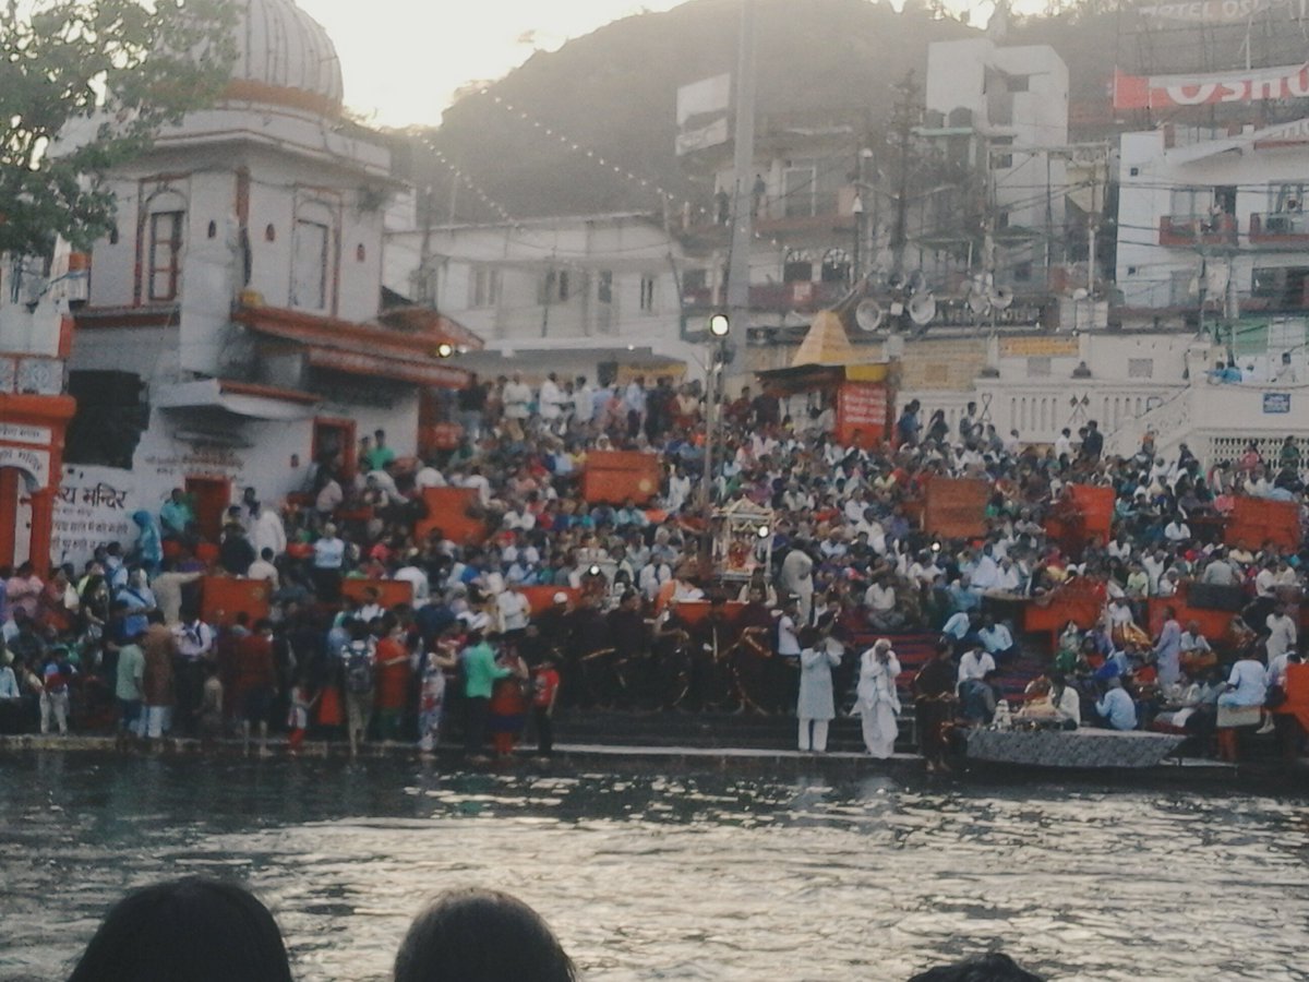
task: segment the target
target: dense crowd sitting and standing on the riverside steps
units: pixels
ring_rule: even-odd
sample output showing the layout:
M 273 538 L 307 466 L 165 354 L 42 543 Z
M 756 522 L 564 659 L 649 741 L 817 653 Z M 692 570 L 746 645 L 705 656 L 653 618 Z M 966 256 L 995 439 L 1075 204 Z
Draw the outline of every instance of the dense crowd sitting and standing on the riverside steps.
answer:
M 1069 623 L 1038 657 L 1028 725 L 1203 735 L 1220 706 L 1268 702 L 1300 659 L 1309 554 L 1225 547 L 1216 525 L 1234 495 L 1302 505 L 1292 437 L 1275 460 L 1251 444 L 1204 471 L 1185 445 L 1157 454 L 1152 436 L 1107 456 L 1094 420 L 1037 446 L 974 405 L 953 426 L 942 411 L 924 423 L 915 401 L 865 448 L 835 439 L 830 397 L 746 388 L 723 406 L 704 488 L 695 384 L 474 377 L 449 411 L 462 427 L 452 449 L 401 458 L 382 431 L 332 448 L 285 500 L 245 488 L 217 542 L 178 490 L 136 512 L 135 541 L 105 543 L 82 568 L 3 571 L 0 729 L 117 718 L 124 738 L 240 733 L 262 748 L 272 727 L 292 750 L 319 737 L 431 750 L 453 718 L 480 758 L 488 737 L 513 752 L 529 721 L 548 754 L 558 704 L 795 715 L 800 749 L 822 752 L 830 720 L 853 711 L 869 753 L 886 757 L 911 703 L 929 766 L 945 767 L 953 727 L 1008 710 L 1021 606 L 1071 584 L 1094 587 L 1105 614 Z M 586 457 L 605 449 L 657 456 L 649 501 L 586 499 Z M 927 486 L 952 477 L 990 486 L 971 539 L 922 525 Z M 1073 484 L 1111 488 L 1107 538 L 1047 532 Z M 427 513 L 423 491 L 446 486 L 474 492 L 484 538 L 456 542 Z M 770 509 L 749 581 L 715 575 L 706 498 Z M 267 615 L 207 623 L 196 591 L 213 572 L 266 581 Z M 404 583 L 411 600 L 386 606 L 376 589 L 346 589 L 352 579 Z M 529 588 L 550 602 L 534 606 Z M 1173 615 L 1149 630 L 1152 598 L 1198 589 L 1240 610 L 1233 636 Z M 707 614 L 690 617 L 692 601 Z M 912 673 L 894 649 L 905 635 L 940 638 Z

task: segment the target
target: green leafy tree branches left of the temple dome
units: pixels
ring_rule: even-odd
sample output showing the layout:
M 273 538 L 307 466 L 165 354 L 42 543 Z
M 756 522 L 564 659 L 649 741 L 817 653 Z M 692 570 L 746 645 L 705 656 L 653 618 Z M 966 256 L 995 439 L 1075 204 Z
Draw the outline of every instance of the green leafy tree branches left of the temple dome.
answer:
M 0 3 L 0 253 L 86 249 L 113 227 L 106 172 L 221 92 L 230 1 Z

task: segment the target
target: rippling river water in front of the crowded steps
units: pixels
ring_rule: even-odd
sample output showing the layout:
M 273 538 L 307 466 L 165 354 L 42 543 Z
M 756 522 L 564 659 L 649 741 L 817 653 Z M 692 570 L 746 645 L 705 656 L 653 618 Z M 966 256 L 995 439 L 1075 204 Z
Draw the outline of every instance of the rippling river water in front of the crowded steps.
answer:
M 665 765 L 658 765 L 665 766 Z M 0 978 L 105 909 L 242 877 L 300 982 L 386 979 L 424 897 L 507 889 L 586 979 L 903 979 L 1003 948 L 1052 979 L 1309 979 L 1302 800 L 1090 784 L 418 762 L 0 757 Z

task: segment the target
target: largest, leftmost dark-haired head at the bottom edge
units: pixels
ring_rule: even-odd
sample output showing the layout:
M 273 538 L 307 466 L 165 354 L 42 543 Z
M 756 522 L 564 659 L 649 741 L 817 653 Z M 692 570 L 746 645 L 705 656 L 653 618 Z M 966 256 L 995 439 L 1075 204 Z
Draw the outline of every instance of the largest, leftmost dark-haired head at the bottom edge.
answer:
M 186 877 L 115 903 L 68 982 L 291 982 L 268 909 L 234 882 Z

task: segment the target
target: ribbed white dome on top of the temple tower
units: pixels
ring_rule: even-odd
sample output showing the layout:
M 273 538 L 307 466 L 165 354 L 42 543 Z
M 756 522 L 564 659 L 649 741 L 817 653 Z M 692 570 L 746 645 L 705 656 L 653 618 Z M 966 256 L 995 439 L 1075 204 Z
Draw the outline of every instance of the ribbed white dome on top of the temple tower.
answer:
M 293 0 L 234 0 L 237 58 L 233 94 L 340 109 L 340 59 L 327 31 Z

